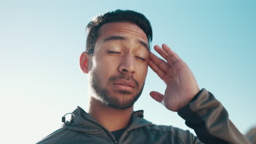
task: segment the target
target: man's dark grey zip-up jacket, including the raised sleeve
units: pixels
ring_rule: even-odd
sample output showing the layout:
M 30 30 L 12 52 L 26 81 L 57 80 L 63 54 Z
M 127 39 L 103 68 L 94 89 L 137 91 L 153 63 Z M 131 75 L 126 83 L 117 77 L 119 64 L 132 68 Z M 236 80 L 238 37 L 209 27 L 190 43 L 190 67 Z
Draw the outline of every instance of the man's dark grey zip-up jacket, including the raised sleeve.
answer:
M 46 136 L 43 143 L 250 143 L 229 120 L 228 112 L 210 92 L 202 89 L 190 103 L 178 111 L 185 124 L 195 130 L 155 125 L 143 118 L 143 111 L 133 112 L 131 122 L 119 139 L 78 107 L 71 121 Z

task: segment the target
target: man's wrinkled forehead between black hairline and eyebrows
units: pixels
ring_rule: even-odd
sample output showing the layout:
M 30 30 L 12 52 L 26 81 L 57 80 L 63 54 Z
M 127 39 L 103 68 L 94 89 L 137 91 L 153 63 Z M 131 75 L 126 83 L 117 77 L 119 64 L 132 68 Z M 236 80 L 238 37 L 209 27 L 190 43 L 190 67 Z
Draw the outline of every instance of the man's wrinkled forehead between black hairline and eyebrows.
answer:
M 144 40 L 148 43 L 147 35 L 137 25 L 130 22 L 109 22 L 99 29 L 99 38 L 108 37 L 115 34 L 126 34 L 131 37 Z

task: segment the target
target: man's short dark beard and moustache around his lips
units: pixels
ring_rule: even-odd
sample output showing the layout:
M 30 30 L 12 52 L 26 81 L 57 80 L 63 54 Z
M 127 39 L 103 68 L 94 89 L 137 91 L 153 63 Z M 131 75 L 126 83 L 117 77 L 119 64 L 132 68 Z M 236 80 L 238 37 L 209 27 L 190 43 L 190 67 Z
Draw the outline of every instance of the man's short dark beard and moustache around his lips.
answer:
M 138 93 L 136 93 L 135 95 L 132 95 L 132 93 L 126 92 L 126 91 L 115 91 L 119 93 L 118 97 L 114 97 L 114 96 L 111 97 L 107 89 L 101 87 L 101 80 L 98 74 L 96 73 L 95 69 L 91 71 L 91 76 L 92 77 L 90 79 L 90 85 L 91 85 L 92 91 L 97 96 L 97 98 L 99 98 L 102 101 L 104 105 L 112 107 L 113 109 L 124 110 L 131 107 L 141 96 L 141 93 L 143 91 L 144 84 L 145 84 L 144 82 L 141 89 L 139 89 Z M 137 89 L 139 88 L 139 83 L 133 77 L 127 76 L 124 74 L 110 77 L 108 79 L 107 85 L 118 79 L 132 80 L 135 83 L 136 88 Z

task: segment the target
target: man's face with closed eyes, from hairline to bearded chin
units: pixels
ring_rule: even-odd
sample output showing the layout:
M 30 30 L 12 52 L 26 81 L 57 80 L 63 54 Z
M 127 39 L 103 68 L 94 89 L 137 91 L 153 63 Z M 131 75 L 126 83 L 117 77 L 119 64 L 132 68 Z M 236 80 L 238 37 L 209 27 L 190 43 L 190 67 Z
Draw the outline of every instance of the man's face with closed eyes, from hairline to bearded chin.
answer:
M 89 81 L 93 97 L 114 109 L 131 107 L 142 93 L 148 71 L 146 34 L 128 22 L 111 22 L 98 32 Z

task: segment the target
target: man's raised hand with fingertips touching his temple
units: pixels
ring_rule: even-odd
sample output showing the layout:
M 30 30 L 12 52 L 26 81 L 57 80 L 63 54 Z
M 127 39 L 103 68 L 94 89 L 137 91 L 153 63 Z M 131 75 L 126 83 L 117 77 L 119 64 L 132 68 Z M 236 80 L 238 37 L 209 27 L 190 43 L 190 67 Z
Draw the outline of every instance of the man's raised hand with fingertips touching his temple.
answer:
M 166 44 L 154 46 L 167 62 L 150 52 L 149 67 L 166 83 L 165 94 L 150 92 L 150 96 L 168 110 L 178 111 L 200 91 L 188 65 Z

